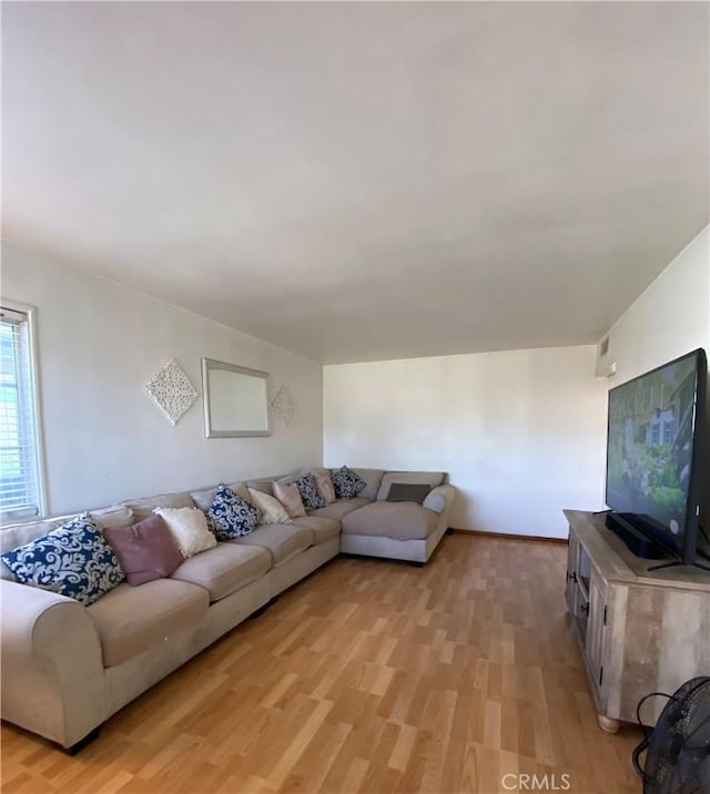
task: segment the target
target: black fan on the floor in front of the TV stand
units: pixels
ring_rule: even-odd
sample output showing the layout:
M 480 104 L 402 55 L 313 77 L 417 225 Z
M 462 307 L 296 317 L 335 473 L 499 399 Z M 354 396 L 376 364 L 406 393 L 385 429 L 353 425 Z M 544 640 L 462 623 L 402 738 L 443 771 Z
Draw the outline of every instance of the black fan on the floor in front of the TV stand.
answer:
M 636 710 L 641 725 L 641 699 Z M 710 676 L 687 681 L 658 717 L 656 727 L 633 751 L 633 766 L 643 780 L 643 794 L 710 793 Z M 642 726 L 642 725 L 641 725 Z M 640 765 L 646 751 L 646 764 Z

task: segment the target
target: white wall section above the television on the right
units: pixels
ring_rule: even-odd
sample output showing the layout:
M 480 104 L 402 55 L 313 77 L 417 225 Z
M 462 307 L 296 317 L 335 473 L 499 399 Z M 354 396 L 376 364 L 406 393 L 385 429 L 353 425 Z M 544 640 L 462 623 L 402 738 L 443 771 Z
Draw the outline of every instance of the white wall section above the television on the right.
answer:
M 692 240 L 609 332 L 617 386 L 697 347 L 710 352 L 710 226 Z

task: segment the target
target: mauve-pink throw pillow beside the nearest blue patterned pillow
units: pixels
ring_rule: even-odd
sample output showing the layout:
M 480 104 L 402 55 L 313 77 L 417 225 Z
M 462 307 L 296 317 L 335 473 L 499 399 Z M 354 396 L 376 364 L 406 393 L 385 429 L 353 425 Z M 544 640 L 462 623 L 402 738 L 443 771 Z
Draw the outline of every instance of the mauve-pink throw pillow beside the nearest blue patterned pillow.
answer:
M 103 537 L 115 551 L 129 584 L 169 577 L 184 559 L 160 516 L 132 527 L 104 527 Z

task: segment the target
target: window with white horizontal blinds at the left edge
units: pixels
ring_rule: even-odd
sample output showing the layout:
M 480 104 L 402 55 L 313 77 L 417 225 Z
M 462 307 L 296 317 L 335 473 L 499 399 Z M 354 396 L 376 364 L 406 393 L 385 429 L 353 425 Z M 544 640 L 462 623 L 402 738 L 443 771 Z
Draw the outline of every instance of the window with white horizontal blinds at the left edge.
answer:
M 44 511 L 33 309 L 0 308 L 0 523 Z

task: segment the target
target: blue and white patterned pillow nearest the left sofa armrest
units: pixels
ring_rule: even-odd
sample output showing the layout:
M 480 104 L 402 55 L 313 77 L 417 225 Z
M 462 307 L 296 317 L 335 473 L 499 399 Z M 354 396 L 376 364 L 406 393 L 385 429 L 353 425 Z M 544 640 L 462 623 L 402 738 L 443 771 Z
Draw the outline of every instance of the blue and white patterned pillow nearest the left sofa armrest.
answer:
M 113 549 L 88 512 L 0 557 L 22 584 L 73 598 L 85 607 L 124 578 Z

